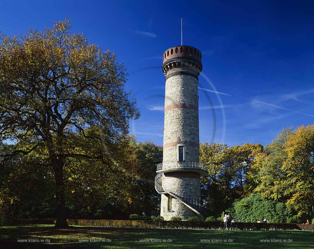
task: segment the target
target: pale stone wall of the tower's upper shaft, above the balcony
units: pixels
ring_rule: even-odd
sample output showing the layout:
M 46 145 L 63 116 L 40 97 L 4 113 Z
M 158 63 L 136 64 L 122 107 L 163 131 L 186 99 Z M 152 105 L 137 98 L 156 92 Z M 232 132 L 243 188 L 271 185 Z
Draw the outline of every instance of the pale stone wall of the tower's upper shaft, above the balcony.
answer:
M 198 125 L 198 80 L 189 75 L 176 75 L 166 80 L 165 108 L 185 103 L 196 109 L 175 108 L 165 110 L 164 146 L 171 142 L 192 142 L 199 144 Z M 199 149 L 186 146 L 186 160 L 198 162 Z M 176 146 L 165 147 L 163 162 L 177 161 Z

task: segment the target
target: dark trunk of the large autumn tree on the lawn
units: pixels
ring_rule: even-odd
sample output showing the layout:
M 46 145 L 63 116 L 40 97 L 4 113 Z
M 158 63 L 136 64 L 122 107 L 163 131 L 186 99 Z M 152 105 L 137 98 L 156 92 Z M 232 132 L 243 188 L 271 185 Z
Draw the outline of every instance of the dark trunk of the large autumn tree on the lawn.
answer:
M 55 228 L 68 227 L 67 214 L 64 200 L 64 179 L 63 179 L 63 160 L 57 159 L 53 162 L 53 170 L 55 173 L 55 191 L 56 191 L 56 225 Z

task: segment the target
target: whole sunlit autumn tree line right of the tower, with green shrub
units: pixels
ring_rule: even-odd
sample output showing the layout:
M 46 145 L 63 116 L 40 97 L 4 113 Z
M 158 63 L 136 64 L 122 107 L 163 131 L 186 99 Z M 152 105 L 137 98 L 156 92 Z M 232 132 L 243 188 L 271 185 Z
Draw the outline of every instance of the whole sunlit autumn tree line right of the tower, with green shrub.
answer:
M 263 147 L 200 144 L 203 200 L 213 216 L 304 222 L 314 216 L 314 125 L 283 129 Z M 263 214 L 263 215 L 262 215 Z

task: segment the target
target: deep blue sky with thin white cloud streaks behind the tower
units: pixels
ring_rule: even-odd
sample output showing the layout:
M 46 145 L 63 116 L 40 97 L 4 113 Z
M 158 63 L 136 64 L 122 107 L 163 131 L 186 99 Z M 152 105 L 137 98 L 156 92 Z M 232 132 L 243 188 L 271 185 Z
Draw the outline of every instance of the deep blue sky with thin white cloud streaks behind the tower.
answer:
M 266 145 L 282 128 L 314 121 L 313 13 L 310 1 L 0 0 L 0 30 L 12 36 L 71 19 L 73 32 L 127 67 L 141 111 L 131 132 L 162 145 L 162 55 L 181 44 L 182 16 L 183 44 L 202 52 L 199 84 L 209 90 L 199 89 L 200 141 L 212 142 L 215 123 L 214 142 Z

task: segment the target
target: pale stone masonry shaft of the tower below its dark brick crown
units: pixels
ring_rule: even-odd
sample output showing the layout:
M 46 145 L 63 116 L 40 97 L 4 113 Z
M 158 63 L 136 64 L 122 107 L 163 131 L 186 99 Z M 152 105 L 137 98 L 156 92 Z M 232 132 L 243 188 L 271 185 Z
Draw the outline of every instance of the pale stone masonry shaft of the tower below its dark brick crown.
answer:
M 199 124 L 198 124 L 198 79 L 187 74 L 198 75 L 191 66 L 176 66 L 167 72 L 185 73 L 172 75 L 166 79 L 165 123 L 163 163 L 177 162 L 177 144 L 185 144 L 185 161 L 199 161 Z M 185 193 L 189 198 L 200 200 L 200 178 L 197 173 L 185 172 L 163 177 L 162 186 L 166 192 Z M 175 197 L 172 198 L 172 210 L 168 210 L 169 194 L 161 194 L 160 215 L 165 220 L 180 216 L 183 220 L 196 214 Z

